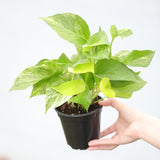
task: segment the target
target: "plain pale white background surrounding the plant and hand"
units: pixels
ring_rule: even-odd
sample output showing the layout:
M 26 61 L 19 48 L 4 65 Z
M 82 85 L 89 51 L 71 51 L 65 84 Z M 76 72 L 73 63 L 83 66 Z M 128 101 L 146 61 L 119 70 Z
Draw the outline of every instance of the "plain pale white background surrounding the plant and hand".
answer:
M 26 67 L 43 58 L 69 57 L 74 46 L 58 35 L 38 17 L 73 12 L 88 23 L 91 33 L 99 25 L 109 34 L 116 24 L 131 28 L 134 35 L 117 38 L 113 51 L 121 49 L 156 50 L 151 65 L 141 69 L 148 84 L 130 99 L 119 99 L 139 110 L 160 116 L 160 1 L 158 0 L 0 0 L 0 156 L 11 160 L 111 159 L 158 160 L 160 151 L 139 140 L 113 151 L 72 150 L 65 141 L 54 110 L 44 114 L 43 96 L 29 99 L 31 88 L 8 92 L 14 79 Z M 109 36 L 110 38 L 110 36 Z M 101 128 L 112 124 L 117 112 L 104 108 Z

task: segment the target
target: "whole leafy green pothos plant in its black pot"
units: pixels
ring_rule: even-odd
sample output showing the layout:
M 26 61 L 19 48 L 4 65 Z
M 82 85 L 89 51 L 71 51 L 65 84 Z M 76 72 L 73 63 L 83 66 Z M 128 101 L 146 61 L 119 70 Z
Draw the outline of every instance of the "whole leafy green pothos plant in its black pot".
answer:
M 46 112 L 56 108 L 67 143 L 74 149 L 86 149 L 88 141 L 99 138 L 100 92 L 105 97 L 130 98 L 146 82 L 140 72 L 129 67 L 147 67 L 151 50 L 122 50 L 112 55 L 116 37 L 132 35 L 130 29 L 110 28 L 111 42 L 104 30 L 90 35 L 87 23 L 78 15 L 62 13 L 41 18 L 64 40 L 74 44 L 77 54 L 71 59 L 62 53 L 57 59 L 43 59 L 26 68 L 10 90 L 33 86 L 31 97 L 46 95 Z

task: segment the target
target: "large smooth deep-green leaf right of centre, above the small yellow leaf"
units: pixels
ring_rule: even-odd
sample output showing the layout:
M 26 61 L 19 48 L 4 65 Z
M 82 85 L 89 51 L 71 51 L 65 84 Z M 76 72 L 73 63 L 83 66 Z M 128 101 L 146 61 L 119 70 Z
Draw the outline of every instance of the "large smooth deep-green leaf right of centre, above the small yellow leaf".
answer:
M 99 60 L 95 64 L 95 74 L 99 78 L 108 77 L 110 80 L 137 81 L 136 74 L 131 69 L 113 59 Z

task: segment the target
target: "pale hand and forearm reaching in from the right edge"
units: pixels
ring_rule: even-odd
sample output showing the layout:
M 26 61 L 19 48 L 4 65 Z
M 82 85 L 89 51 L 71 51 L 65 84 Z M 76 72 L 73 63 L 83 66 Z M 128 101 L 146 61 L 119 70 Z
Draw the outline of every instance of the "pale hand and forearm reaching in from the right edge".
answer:
M 128 107 L 110 98 L 99 102 L 102 106 L 112 106 L 119 112 L 117 121 L 100 133 L 101 139 L 88 143 L 89 151 L 112 150 L 119 145 L 142 139 L 160 149 L 160 119 Z M 115 133 L 111 138 L 102 138 Z

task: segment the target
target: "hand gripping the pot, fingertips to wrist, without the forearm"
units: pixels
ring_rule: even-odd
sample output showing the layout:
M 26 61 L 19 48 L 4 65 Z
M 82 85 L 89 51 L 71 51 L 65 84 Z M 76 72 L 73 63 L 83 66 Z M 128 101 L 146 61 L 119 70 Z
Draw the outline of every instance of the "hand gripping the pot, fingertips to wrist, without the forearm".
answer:
M 141 137 L 140 125 L 146 115 L 134 108 L 128 107 L 113 98 L 99 102 L 103 106 L 112 106 L 119 112 L 117 121 L 100 133 L 100 137 L 114 133 L 112 138 L 92 140 L 88 150 L 112 150 L 121 144 L 134 142 Z

